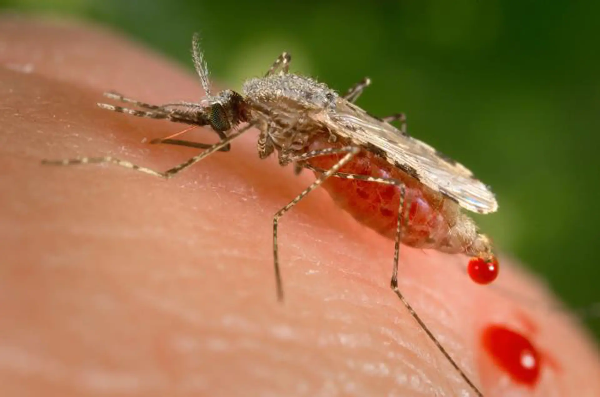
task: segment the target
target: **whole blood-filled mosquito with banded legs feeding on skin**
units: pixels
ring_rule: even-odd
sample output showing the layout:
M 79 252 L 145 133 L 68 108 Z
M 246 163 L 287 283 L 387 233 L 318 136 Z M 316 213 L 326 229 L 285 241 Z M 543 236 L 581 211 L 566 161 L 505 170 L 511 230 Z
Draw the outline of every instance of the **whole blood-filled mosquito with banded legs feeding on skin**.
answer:
M 229 150 L 233 140 L 256 128 L 259 130 L 257 150 L 261 159 L 277 153 L 281 166 L 293 165 L 296 173 L 307 169 L 316 175 L 310 186 L 273 217 L 278 300 L 283 301 L 284 297 L 277 243 L 279 220 L 308 193 L 323 186 L 338 205 L 359 222 L 394 239 L 392 290 L 469 387 L 476 395 L 483 396 L 398 288 L 398 258 L 400 243 L 404 243 L 447 253 L 463 253 L 472 257 L 473 264 L 497 266 L 490 239 L 461 212 L 461 208 L 482 214 L 496 211 L 498 205 L 490 189 L 460 163 L 409 136 L 403 114 L 377 118 L 356 106 L 356 100 L 370 85 L 370 79 L 363 79 L 345 95 L 340 95 L 310 77 L 290 73 L 291 56 L 283 52 L 263 77 L 245 81 L 242 94 L 227 89 L 212 95 L 199 42 L 199 35 L 194 34 L 194 67 L 206 92 L 199 102 L 158 106 L 107 92 L 106 97 L 139 109 L 107 103 L 97 105 L 137 117 L 209 126 L 220 142 L 208 145 L 172 139 L 173 136 L 155 139 L 152 143 L 205 149 L 167 171 L 155 171 L 110 156 L 42 162 L 48 165 L 113 163 L 169 179 L 216 151 Z M 390 124 L 394 121 L 401 123 L 399 129 Z M 245 126 L 240 127 L 241 124 Z

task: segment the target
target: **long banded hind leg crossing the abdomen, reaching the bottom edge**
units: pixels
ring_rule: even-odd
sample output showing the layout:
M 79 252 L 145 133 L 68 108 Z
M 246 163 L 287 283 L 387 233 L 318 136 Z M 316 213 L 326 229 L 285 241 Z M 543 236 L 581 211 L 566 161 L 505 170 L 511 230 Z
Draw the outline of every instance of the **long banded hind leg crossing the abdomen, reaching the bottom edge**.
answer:
M 311 171 L 314 171 L 314 172 L 325 173 L 327 171 L 325 169 L 320 169 L 317 167 L 313 167 L 311 165 L 304 165 L 304 168 L 310 169 Z M 331 171 L 331 170 L 329 170 L 329 171 Z M 404 190 L 404 184 L 399 180 L 395 180 L 395 179 L 391 179 L 391 178 L 374 178 L 374 177 L 369 177 L 368 175 L 346 174 L 344 172 L 337 172 L 337 171 L 332 172 L 330 174 L 330 176 L 336 177 L 336 178 L 343 178 L 343 179 L 352 179 L 352 180 L 368 181 L 368 182 L 374 182 L 374 183 L 389 184 L 389 185 L 397 186 L 400 189 L 400 205 L 398 208 L 398 221 L 397 221 L 396 234 L 395 234 L 395 239 L 394 239 L 394 267 L 392 268 L 392 279 L 390 282 L 390 287 L 392 288 L 392 291 L 394 291 L 394 293 L 397 295 L 397 297 L 401 300 L 401 302 L 406 307 L 406 309 L 409 311 L 412 318 L 415 319 L 415 321 L 419 324 L 421 329 L 424 330 L 425 334 L 427 334 L 428 338 L 431 339 L 431 341 L 433 342 L 434 345 L 436 345 L 437 350 L 439 350 L 443 354 L 443 356 L 446 358 L 446 360 L 448 360 L 448 362 L 452 365 L 452 367 L 454 367 L 454 369 L 458 372 L 460 377 L 463 378 L 463 380 L 469 385 L 469 387 L 471 387 L 471 389 L 473 389 L 475 394 L 478 395 L 479 397 L 483 397 L 483 393 L 479 390 L 479 388 L 477 386 L 475 386 L 475 384 L 473 384 L 473 381 L 471 381 L 470 378 L 467 377 L 467 375 L 460 368 L 460 366 L 458 366 L 458 364 L 455 362 L 455 360 L 452 359 L 452 356 L 450 356 L 448 351 L 446 351 L 446 349 L 442 346 L 442 344 L 437 340 L 436 336 L 433 335 L 433 333 L 431 332 L 429 327 L 427 327 L 427 325 L 423 322 L 423 320 L 421 320 L 421 317 L 416 313 L 415 309 L 412 308 L 412 305 L 410 305 L 410 303 L 406 300 L 406 298 L 404 297 L 404 294 L 400 291 L 400 288 L 398 288 L 398 261 L 400 258 L 400 237 L 401 237 L 400 233 L 401 233 L 402 226 L 403 226 L 402 225 L 403 217 L 401 216 L 401 213 L 404 210 L 404 198 L 406 195 L 406 191 Z M 410 205 L 407 205 L 406 207 L 410 208 Z M 407 217 L 405 216 L 404 219 L 407 219 Z

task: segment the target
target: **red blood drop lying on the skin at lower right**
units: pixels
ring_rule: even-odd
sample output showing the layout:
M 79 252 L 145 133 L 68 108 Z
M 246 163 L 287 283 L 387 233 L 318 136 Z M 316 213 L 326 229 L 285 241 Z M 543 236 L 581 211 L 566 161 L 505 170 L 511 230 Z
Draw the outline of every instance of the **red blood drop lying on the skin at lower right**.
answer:
M 503 326 L 488 326 L 482 334 L 484 350 L 516 383 L 535 386 L 541 355 L 526 337 Z

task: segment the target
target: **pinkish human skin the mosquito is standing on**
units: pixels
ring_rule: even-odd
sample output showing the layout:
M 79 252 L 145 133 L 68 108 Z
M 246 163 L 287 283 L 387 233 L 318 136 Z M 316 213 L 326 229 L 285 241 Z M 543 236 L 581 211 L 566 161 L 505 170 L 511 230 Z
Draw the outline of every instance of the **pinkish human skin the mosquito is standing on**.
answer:
M 14 17 L 0 19 L 0 65 L 3 396 L 474 395 L 389 289 L 392 241 L 320 189 L 280 221 L 277 302 L 272 215 L 314 177 L 259 160 L 256 132 L 171 180 L 40 165 L 110 154 L 165 170 L 194 156 L 143 141 L 185 126 L 95 106 L 113 89 L 197 100 L 190 71 L 103 29 Z M 486 396 L 600 395 L 598 348 L 500 258 L 512 297 L 471 282 L 466 256 L 406 246 L 400 288 Z M 489 324 L 542 352 L 535 387 L 482 350 Z

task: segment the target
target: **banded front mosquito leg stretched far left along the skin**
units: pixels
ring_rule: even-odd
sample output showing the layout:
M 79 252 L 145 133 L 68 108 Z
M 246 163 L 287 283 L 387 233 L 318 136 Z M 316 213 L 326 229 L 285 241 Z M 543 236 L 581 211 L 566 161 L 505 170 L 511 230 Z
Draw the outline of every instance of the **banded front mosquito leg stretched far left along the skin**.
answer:
M 197 156 L 191 157 L 191 159 L 188 159 L 187 161 L 185 161 L 179 165 L 176 165 L 173 168 L 167 169 L 167 171 L 164 171 L 164 172 L 155 171 L 154 169 L 151 169 L 151 168 L 146 168 L 146 167 L 142 167 L 139 165 L 135 165 L 131 162 L 128 162 L 127 160 L 115 159 L 115 157 L 111 157 L 111 156 L 83 157 L 83 159 L 42 160 L 41 163 L 44 165 L 77 165 L 77 164 L 91 164 L 91 163 L 94 163 L 94 164 L 113 163 L 113 164 L 121 166 L 121 167 L 130 168 L 135 171 L 140 171 L 140 172 L 143 172 L 143 173 L 149 174 L 149 175 L 154 175 L 155 177 L 169 179 L 169 178 L 174 177 L 176 174 L 179 174 L 179 172 L 183 171 L 184 169 L 188 168 L 189 166 L 194 165 L 195 163 L 199 162 L 200 160 L 204 159 L 205 157 L 208 157 L 212 153 L 215 153 L 215 151 L 218 151 L 220 148 L 225 147 L 227 144 L 229 144 L 229 142 L 231 142 L 231 141 L 233 141 L 233 139 L 236 139 L 239 136 L 241 136 L 244 132 L 249 130 L 251 127 L 253 127 L 253 124 L 248 124 L 248 126 L 245 126 L 244 128 L 237 130 L 236 132 L 232 133 L 232 135 L 228 136 L 226 139 L 223 139 L 223 141 L 220 141 L 214 145 L 211 145 L 211 147 L 209 147 L 207 150 L 203 151 L 202 153 L 198 154 Z

